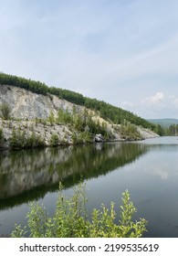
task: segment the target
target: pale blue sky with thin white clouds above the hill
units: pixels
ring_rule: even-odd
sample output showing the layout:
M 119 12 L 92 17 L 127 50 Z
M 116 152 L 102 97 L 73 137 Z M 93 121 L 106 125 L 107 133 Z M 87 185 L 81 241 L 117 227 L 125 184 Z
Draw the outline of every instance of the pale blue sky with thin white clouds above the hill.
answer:
M 178 1 L 0 0 L 0 71 L 178 118 Z

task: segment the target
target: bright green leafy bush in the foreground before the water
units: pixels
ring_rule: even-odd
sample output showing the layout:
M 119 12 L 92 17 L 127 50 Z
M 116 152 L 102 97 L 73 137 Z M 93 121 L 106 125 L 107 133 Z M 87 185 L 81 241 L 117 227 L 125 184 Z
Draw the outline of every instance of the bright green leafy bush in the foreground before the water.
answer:
M 32 238 L 139 238 L 146 231 L 147 221 L 133 221 L 136 208 L 130 199 L 128 190 L 122 193 L 120 219 L 116 224 L 117 214 L 114 203 L 110 209 L 101 205 L 100 209 L 93 209 L 89 220 L 86 209 L 87 197 L 85 187 L 79 184 L 74 190 L 73 197 L 68 199 L 60 187 L 55 214 L 47 216 L 44 207 L 32 203 L 27 214 L 27 226 L 21 229 L 16 225 L 12 237 Z

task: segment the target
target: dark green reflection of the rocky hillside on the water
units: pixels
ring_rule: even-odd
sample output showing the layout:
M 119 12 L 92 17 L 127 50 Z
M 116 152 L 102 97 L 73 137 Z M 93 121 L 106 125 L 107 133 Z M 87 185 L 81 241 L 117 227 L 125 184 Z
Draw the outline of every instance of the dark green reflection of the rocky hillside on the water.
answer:
M 131 163 L 146 152 L 144 144 L 89 144 L 0 155 L 0 208 L 44 197 Z

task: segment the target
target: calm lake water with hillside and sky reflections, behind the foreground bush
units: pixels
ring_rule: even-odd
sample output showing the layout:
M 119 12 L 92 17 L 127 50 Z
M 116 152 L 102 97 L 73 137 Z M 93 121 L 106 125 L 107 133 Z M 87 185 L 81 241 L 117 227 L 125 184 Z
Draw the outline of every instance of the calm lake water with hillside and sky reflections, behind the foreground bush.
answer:
M 26 224 L 31 201 L 43 202 L 52 214 L 58 181 L 71 196 L 81 176 L 89 210 L 110 201 L 119 208 L 127 188 L 135 218 L 149 221 L 145 237 L 178 237 L 178 137 L 0 152 L 0 235 L 11 233 L 15 223 Z

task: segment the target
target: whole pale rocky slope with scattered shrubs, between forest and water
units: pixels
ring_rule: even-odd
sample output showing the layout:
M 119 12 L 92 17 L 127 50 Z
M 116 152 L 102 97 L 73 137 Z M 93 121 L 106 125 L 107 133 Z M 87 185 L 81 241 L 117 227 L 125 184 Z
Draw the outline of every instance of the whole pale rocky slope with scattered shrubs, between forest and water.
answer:
M 86 106 L 0 84 L 0 150 L 103 141 L 131 141 L 158 134 L 134 125 L 112 123 Z

